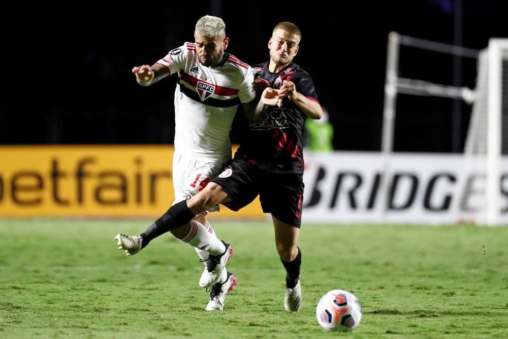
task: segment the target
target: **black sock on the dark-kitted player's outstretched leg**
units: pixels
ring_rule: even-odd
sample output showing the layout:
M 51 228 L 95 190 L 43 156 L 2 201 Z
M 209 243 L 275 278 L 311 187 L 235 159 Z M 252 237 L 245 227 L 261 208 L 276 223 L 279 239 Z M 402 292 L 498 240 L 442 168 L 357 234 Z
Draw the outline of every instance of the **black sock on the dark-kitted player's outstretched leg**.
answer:
M 153 224 L 140 234 L 143 238 L 141 248 L 144 248 L 151 240 L 157 238 L 157 236 L 185 225 L 195 216 L 196 215 L 190 212 L 187 207 L 186 200 L 177 202 L 177 204 L 171 206 L 166 213 L 155 220 Z

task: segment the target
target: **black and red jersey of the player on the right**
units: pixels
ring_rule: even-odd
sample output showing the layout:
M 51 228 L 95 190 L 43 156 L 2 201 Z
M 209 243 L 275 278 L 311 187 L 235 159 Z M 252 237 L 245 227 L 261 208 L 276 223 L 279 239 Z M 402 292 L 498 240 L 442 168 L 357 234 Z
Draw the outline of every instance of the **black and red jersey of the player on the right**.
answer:
M 293 81 L 296 90 L 318 101 L 310 75 L 292 62 L 284 70 L 272 73 L 268 62 L 252 66 L 254 77 L 280 88 L 284 80 Z M 258 93 L 258 97 L 259 97 Z M 277 173 L 303 173 L 303 143 L 306 115 L 287 97 L 282 107 L 270 107 L 260 122 L 249 122 L 235 158 L 256 164 L 264 171 Z

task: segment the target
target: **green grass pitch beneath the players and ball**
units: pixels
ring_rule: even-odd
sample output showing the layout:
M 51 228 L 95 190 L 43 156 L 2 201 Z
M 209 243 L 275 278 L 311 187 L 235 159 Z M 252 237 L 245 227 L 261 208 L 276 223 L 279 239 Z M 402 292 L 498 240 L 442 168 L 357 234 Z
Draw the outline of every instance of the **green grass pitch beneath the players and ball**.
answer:
M 284 270 L 269 222 L 212 225 L 231 242 L 238 285 L 204 310 L 204 268 L 165 234 L 132 257 L 116 233 L 151 221 L 0 220 L 2 338 L 506 338 L 508 227 L 304 224 L 303 306 L 283 309 Z M 358 329 L 315 318 L 328 290 L 355 293 Z

